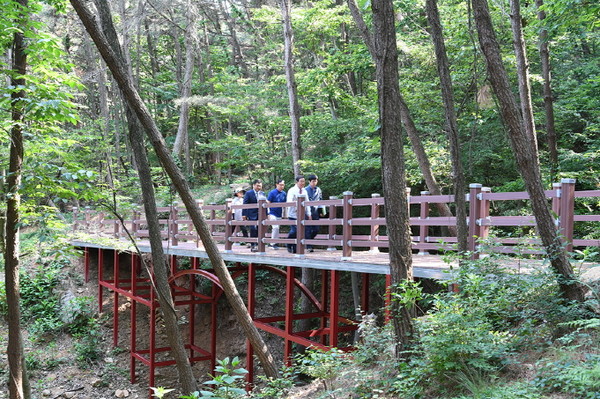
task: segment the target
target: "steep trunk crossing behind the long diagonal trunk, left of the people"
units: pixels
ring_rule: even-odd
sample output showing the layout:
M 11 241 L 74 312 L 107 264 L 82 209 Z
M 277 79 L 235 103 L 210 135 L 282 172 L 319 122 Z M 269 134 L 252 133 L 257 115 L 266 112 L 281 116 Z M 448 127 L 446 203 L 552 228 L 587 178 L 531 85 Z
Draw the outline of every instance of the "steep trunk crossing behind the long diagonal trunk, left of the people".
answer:
M 103 0 L 95 0 L 95 4 L 98 9 L 100 22 L 104 32 L 107 37 L 110 38 L 110 42 L 112 43 L 112 50 L 117 57 L 120 58 L 121 65 L 125 66 L 126 61 L 122 55 L 123 51 L 119 47 L 117 32 L 112 24 L 112 16 L 108 3 Z M 129 78 L 132 79 L 131 75 L 129 75 Z M 129 125 L 129 141 L 138 166 L 137 170 L 142 188 L 144 210 L 146 213 L 146 220 L 148 221 L 150 245 L 152 248 L 152 262 L 154 265 L 153 272 L 155 276 L 154 288 L 157 292 L 160 310 L 165 321 L 167 339 L 171 347 L 171 353 L 175 358 L 183 393 L 189 394 L 197 390 L 196 379 L 194 378 L 192 367 L 181 338 L 177 323 L 177 314 L 175 313 L 175 305 L 169 287 L 167 262 L 162 246 L 160 225 L 156 211 L 156 199 L 154 197 L 154 186 L 152 185 L 152 175 L 150 173 L 150 166 L 148 165 L 146 149 L 144 147 L 142 126 L 129 105 L 126 106 L 126 112 Z

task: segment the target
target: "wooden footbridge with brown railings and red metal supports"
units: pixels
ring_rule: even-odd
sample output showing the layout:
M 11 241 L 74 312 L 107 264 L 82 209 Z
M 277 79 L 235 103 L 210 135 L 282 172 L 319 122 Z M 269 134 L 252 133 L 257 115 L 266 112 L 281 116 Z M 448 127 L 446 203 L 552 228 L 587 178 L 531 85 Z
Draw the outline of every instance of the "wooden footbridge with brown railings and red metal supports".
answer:
M 418 196 L 409 196 L 411 225 L 413 229 L 414 275 L 417 278 L 447 279 L 450 276 L 450 265 L 439 255 L 444 251 L 454 249 L 456 237 L 445 233 L 448 227 L 455 226 L 454 217 L 435 216 L 435 205 L 438 203 L 452 204 L 454 196 L 432 196 L 421 192 Z M 552 210 L 556 215 L 557 229 L 569 250 L 600 246 L 600 239 L 589 237 L 574 237 L 578 223 L 600 222 L 600 190 L 575 191 L 575 181 L 564 179 L 554 184 L 552 190 L 546 192 Z M 521 213 L 528 209 L 526 192 L 492 193 L 491 190 L 479 184 L 470 185 L 467 194 L 469 202 L 469 250 L 472 257 L 480 256 L 483 252 L 502 252 L 518 254 L 543 255 L 540 242 L 535 238 L 535 218 L 531 215 L 501 215 L 499 209 L 516 208 Z M 514 202 L 518 203 L 515 206 Z M 589 214 L 575 214 L 577 201 L 585 201 Z M 505 202 L 513 202 L 511 206 L 502 206 Z M 230 265 L 234 278 L 247 276 L 247 307 L 254 323 L 260 330 L 283 338 L 284 360 L 289 362 L 293 354 L 293 345 L 315 347 L 339 347 L 348 345 L 343 337 L 356 329 L 356 322 L 340 309 L 340 277 L 344 273 L 353 273 L 353 278 L 359 277 L 360 308 L 363 312 L 370 309 L 370 289 L 374 275 L 385 278 L 389 285 L 389 258 L 386 252 L 389 242 L 385 235 L 385 218 L 382 216 L 385 201 L 377 194 L 371 198 L 354 198 L 351 192 L 345 192 L 343 198 L 330 197 L 328 200 L 311 202 L 312 206 L 326 207 L 328 216 L 320 220 L 268 220 L 266 212 L 259 212 L 256 221 L 235 221 L 235 209 L 258 207 L 298 207 L 302 215 L 306 202 L 299 198 L 295 203 L 267 204 L 261 200 L 258 204 L 205 205 L 198 206 L 205 214 L 206 222 L 210 225 L 213 239 L 219 243 L 222 256 Z M 176 306 L 187 313 L 188 324 L 185 333 L 188 337 L 186 347 L 189 349 L 190 361 L 209 361 L 211 370 L 214 368 L 217 337 L 217 302 L 222 295 L 220 283 L 210 267 L 201 267 L 203 259 L 208 256 L 193 229 L 192 221 L 187 217 L 184 208 L 173 204 L 158 208 L 163 227 L 162 235 L 164 248 L 169 255 L 171 265 L 171 287 Z M 119 299 L 127 299 L 131 303 L 130 314 L 130 359 L 131 379 L 135 379 L 136 362 L 149 366 L 149 384 L 155 386 L 155 369 L 160 366 L 174 364 L 168 356 L 170 350 L 157 342 L 156 309 L 158 301 L 151 288 L 151 270 L 142 268 L 140 255 L 150 253 L 147 241 L 148 230 L 142 213 L 136 208 L 121 222 L 107 218 L 105 214 L 91 209 L 74 209 L 75 233 L 84 231 L 105 237 L 104 240 L 75 238 L 75 246 L 84 250 L 85 279 L 89 280 L 90 270 L 97 268 L 98 303 L 103 307 L 103 295 L 106 290 L 113 294 L 113 344 L 118 344 L 119 334 Z M 267 238 L 269 226 L 296 225 L 297 239 Z M 257 238 L 238 237 L 233 234 L 237 225 L 256 226 Z M 320 234 L 314 239 L 303 239 L 307 226 L 321 226 Z M 282 229 L 283 230 L 283 229 Z M 583 229 L 585 230 L 585 229 Z M 595 231 L 597 232 L 596 225 Z M 597 233 L 596 233 L 597 234 Z M 127 247 L 128 237 L 136 240 L 140 253 Z M 75 235 L 77 237 L 77 235 Z M 110 238 L 111 240 L 106 240 Z M 483 245 L 483 241 L 489 241 Z M 240 242 L 257 244 L 258 251 L 250 252 Z M 100 244 L 100 242 L 102 242 Z M 289 254 L 285 249 L 274 250 L 269 244 L 294 244 L 296 254 Z M 307 253 L 307 246 L 312 245 L 315 252 Z M 185 262 L 184 262 L 185 260 Z M 124 267 L 123 265 L 128 266 Z M 541 263 L 541 262 L 540 262 Z M 300 268 L 315 269 L 320 274 L 319 292 L 313 293 L 305 287 L 296 276 Z M 280 298 L 283 314 L 257 316 L 257 270 L 263 270 L 274 278 L 280 278 L 285 285 L 285 295 Z M 385 277 L 384 277 L 385 276 Z M 347 280 L 347 279 L 346 279 Z M 205 284 L 200 284 L 203 281 Z M 207 284 L 211 287 L 206 289 Z M 204 289 L 201 287 L 204 286 Z M 345 287 L 346 292 L 350 290 Z M 282 293 L 283 294 L 283 293 Z M 312 311 L 299 314 L 295 310 L 295 298 L 304 295 L 312 304 Z M 149 314 L 149 347 L 139 348 L 137 344 L 139 305 L 147 309 Z M 195 318 L 199 306 L 208 305 L 210 310 L 210 339 L 208 342 L 196 342 Z M 310 320 L 311 327 L 306 331 L 298 331 L 298 321 Z M 146 334 L 147 332 L 144 332 Z M 254 376 L 253 352 L 247 344 L 246 368 L 249 378 Z

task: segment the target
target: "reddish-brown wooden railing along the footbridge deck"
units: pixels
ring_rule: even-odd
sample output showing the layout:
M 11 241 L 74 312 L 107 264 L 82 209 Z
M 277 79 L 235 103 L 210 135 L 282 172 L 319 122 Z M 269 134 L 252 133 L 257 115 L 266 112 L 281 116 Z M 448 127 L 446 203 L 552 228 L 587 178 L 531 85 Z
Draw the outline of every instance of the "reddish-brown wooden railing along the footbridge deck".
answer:
M 546 191 L 546 197 L 551 201 L 552 211 L 555 215 L 556 226 L 560 231 L 567 250 L 574 247 L 600 246 L 598 232 L 600 225 L 594 226 L 595 238 L 574 237 L 574 225 L 578 222 L 600 222 L 600 190 L 575 191 L 575 180 L 563 179 L 555 183 L 552 190 Z M 592 198 L 595 203 L 588 206 L 590 212 L 586 215 L 576 215 L 575 202 L 580 198 Z M 198 207 L 203 212 L 213 238 L 224 243 L 225 251 L 233 251 L 234 244 L 240 242 L 255 243 L 258 253 L 265 253 L 268 244 L 294 244 L 296 253 L 302 255 L 307 245 L 326 247 L 328 250 L 341 250 L 342 259 L 349 260 L 354 249 L 378 251 L 387 248 L 389 242 L 385 235 L 386 221 L 383 216 L 385 200 L 378 194 L 371 198 L 354 198 L 352 192 L 344 192 L 342 198 L 330 197 L 327 200 L 310 202 L 311 206 L 322 206 L 327 209 L 327 216 L 320 220 L 268 220 L 266 208 L 287 208 L 296 206 L 298 215 L 303 215 L 307 202 L 300 197 L 294 203 L 267 204 L 260 200 L 258 204 L 232 205 L 228 199 L 225 204 L 205 205 L 198 201 Z M 471 184 L 469 194 L 467 223 L 469 226 L 468 248 L 473 253 L 481 250 L 482 240 L 489 239 L 494 243 L 488 251 L 506 253 L 543 253 L 539 239 L 535 237 L 535 217 L 532 215 L 497 215 L 496 207 L 503 201 L 526 201 L 529 196 L 526 192 L 492 193 L 489 188 L 480 184 Z M 596 200 L 597 199 L 597 200 Z M 456 225 L 455 217 L 432 216 L 432 205 L 438 203 L 452 204 L 453 195 L 409 195 L 410 222 L 413 230 L 413 249 L 419 254 L 429 251 L 446 251 L 455 249 L 456 237 L 447 233 L 448 227 Z M 236 221 L 233 218 L 235 209 L 259 208 L 259 218 L 256 221 Z M 527 207 L 520 204 L 511 209 L 526 211 Z M 163 227 L 162 237 L 168 240 L 169 245 L 177 246 L 180 242 L 195 242 L 200 245 L 192 221 L 185 208 L 176 203 L 168 207 L 159 207 L 160 224 Z M 73 209 L 74 230 L 84 229 L 88 233 L 109 234 L 116 238 L 125 237 L 122 223 L 115 219 L 107 219 L 106 215 L 86 208 Z M 268 235 L 269 226 L 296 225 L 298 239 L 287 239 L 282 231 L 281 238 L 271 239 Z M 235 226 L 256 226 L 258 238 L 234 236 Z M 320 234 L 314 239 L 304 239 L 307 226 L 321 226 Z M 130 234 L 138 239 L 148 237 L 146 220 L 139 208 L 136 208 L 125 220 L 125 227 Z M 494 230 L 491 230 L 494 228 Z M 283 229 L 281 229 L 283 230 Z M 493 232 L 493 237 L 491 233 Z M 523 244 L 523 245 L 520 245 Z

